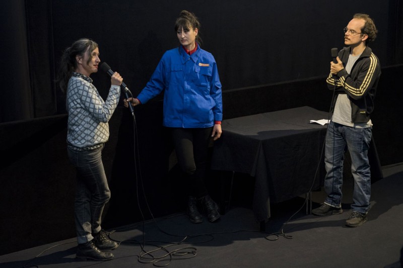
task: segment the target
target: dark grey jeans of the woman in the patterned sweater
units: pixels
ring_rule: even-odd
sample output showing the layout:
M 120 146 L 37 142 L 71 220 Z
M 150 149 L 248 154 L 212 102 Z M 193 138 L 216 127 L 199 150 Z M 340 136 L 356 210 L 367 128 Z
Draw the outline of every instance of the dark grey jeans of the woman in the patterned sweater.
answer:
M 110 199 L 101 158 L 103 147 L 82 151 L 68 147 L 69 159 L 77 170 L 74 213 L 79 244 L 91 241 L 92 233 L 101 230 L 102 211 Z

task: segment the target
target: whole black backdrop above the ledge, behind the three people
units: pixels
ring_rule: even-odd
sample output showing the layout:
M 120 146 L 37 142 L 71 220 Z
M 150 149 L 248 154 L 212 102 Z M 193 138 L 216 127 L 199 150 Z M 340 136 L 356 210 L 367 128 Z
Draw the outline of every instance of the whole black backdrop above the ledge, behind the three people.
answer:
M 177 46 L 173 24 L 182 9 L 199 17 L 201 47 L 215 56 L 224 91 L 326 75 L 329 50 L 343 47 L 341 29 L 357 12 L 375 20 L 379 34 L 371 47 L 382 67 L 403 63 L 401 0 L 342 0 L 337 7 L 320 0 L 15 0 L 1 6 L 0 123 L 65 113 L 55 71 L 61 51 L 82 37 L 98 42 L 101 60 L 137 95 L 164 51 Z M 92 78 L 106 96 L 109 78 Z

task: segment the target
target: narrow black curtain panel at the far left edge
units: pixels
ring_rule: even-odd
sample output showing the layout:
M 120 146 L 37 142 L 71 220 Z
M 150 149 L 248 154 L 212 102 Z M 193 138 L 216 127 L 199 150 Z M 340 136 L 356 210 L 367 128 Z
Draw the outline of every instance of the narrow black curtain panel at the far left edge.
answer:
M 0 123 L 33 118 L 24 1 L 0 4 Z

